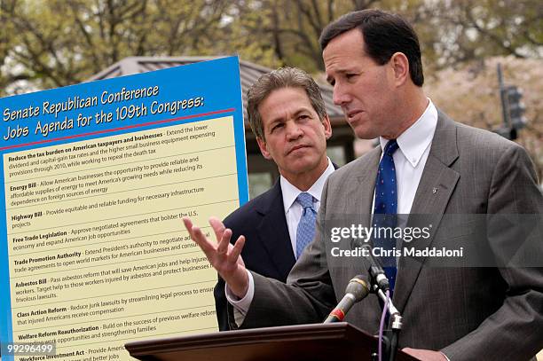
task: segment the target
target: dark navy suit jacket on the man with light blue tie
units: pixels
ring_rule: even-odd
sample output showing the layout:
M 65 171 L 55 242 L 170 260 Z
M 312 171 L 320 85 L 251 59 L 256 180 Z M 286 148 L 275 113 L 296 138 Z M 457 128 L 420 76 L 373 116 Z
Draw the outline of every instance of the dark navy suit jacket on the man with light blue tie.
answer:
M 241 257 L 248 270 L 281 282 L 287 281 L 288 272 L 296 260 L 288 234 L 279 179 L 269 191 L 227 216 L 224 226 L 232 230 L 232 243 L 240 235 L 246 237 Z M 215 286 L 214 295 L 219 330 L 229 330 L 224 280 L 221 278 Z

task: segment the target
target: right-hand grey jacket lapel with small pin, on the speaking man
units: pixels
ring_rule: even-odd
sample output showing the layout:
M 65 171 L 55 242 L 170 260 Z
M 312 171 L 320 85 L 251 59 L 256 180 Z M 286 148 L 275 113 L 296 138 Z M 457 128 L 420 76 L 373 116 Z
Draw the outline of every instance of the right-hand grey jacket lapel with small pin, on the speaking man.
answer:
M 429 239 L 413 240 L 417 242 L 417 248 L 429 247 L 434 239 L 454 187 L 460 179 L 460 174 L 450 168 L 458 156 L 456 125 L 445 114 L 438 112 L 436 133 L 410 212 L 413 216 L 410 216 L 407 222 L 407 226 L 413 226 L 413 223 L 416 223 L 414 218 L 424 215 L 432 224 Z M 421 272 L 422 263 L 412 258 L 400 257 L 394 290 L 394 303 L 400 311 L 404 310 Z

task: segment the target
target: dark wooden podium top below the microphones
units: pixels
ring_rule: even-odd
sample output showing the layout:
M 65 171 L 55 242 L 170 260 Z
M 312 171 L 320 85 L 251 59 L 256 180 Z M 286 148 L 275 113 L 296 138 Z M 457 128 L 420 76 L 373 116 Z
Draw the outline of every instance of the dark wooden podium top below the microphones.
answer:
M 142 361 L 364 361 L 377 350 L 374 336 L 345 322 L 199 334 L 124 345 Z M 415 361 L 401 350 L 397 361 Z

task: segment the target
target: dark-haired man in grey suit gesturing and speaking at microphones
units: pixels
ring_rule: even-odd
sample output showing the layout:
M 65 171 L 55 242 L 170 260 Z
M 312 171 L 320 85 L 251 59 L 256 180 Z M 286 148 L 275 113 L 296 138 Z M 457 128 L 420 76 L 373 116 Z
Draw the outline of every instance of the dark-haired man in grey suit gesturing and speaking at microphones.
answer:
M 386 272 L 395 280 L 393 302 L 404 321 L 399 346 L 422 360 L 533 357 L 543 348 L 543 197 L 526 152 L 498 135 L 453 122 L 434 106 L 422 90 L 417 35 L 397 15 L 351 12 L 325 28 L 320 43 L 334 103 L 358 137 L 379 137 L 381 146 L 328 177 L 319 232 L 287 284 L 243 267 L 243 237 L 228 247 L 232 232 L 214 224 L 219 242 L 213 245 L 185 219 L 227 288 L 240 298 L 232 302 L 242 316 L 235 325 L 326 318 L 349 279 L 368 265 L 365 257 L 334 256 L 336 244 L 326 237 L 331 221 L 348 230 L 342 215 L 367 228 L 383 214 L 409 215 L 407 226 L 412 217 L 428 215 L 429 237 L 413 240 L 419 247 L 451 248 L 468 239 L 466 245 L 481 247 L 484 261 L 496 264 L 482 267 L 464 259 L 467 265 L 439 267 L 431 256 L 390 257 Z M 479 227 L 481 215 L 491 222 Z M 460 223 L 448 227 L 453 216 Z M 530 229 L 515 226 L 525 217 L 535 219 Z M 501 262 L 519 252 L 532 262 Z M 345 320 L 375 333 L 380 311 L 376 297 L 368 296 Z

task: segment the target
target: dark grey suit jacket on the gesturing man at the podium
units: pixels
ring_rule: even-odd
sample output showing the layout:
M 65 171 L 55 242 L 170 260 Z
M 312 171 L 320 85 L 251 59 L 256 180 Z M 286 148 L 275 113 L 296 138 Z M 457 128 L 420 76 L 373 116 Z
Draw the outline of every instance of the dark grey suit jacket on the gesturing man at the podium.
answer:
M 327 224 L 341 224 L 342 217 L 348 220 L 342 225 L 349 226 L 348 215 L 369 226 L 380 155 L 377 147 L 328 177 L 315 239 L 287 285 L 253 272 L 255 296 L 241 328 L 322 322 L 349 279 L 367 272 L 364 257 L 338 263 L 331 256 L 335 244 L 322 234 Z M 426 240 L 429 247 L 451 247 L 454 239 L 481 232 L 469 222 L 447 228 L 445 215 L 535 215 L 539 230 L 528 235 L 531 254 L 543 260 L 543 197 L 528 155 L 513 142 L 453 122 L 445 114 L 439 114 L 413 214 L 435 216 Z M 523 241 L 511 237 L 508 228 L 502 231 L 484 229 L 478 243 L 499 256 Z M 543 348 L 543 267 L 440 268 L 402 257 L 393 302 L 404 321 L 400 347 L 441 349 L 452 361 L 526 360 Z M 370 294 L 350 310 L 346 321 L 374 333 L 380 311 Z

